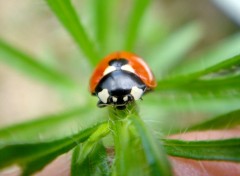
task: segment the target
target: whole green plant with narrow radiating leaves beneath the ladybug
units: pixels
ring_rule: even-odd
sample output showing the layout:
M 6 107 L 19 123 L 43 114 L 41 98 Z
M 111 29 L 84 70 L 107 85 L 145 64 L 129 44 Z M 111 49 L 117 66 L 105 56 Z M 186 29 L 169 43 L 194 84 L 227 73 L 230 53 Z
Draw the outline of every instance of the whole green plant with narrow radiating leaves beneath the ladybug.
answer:
M 130 104 L 126 110 L 98 109 L 96 99 L 90 99 L 83 89 L 87 87 L 84 80 L 79 86 L 56 69 L 0 40 L 1 60 L 55 86 L 60 93 L 63 90 L 69 94 L 77 91 L 87 99 L 82 107 L 1 129 L 0 168 L 18 164 L 22 175 L 30 175 L 70 150 L 73 150 L 72 175 L 171 175 L 167 154 L 200 160 L 240 161 L 240 138 L 214 141 L 167 138 L 183 128 L 185 131 L 227 129 L 240 124 L 240 55 L 231 51 L 231 46 L 240 46 L 239 35 L 202 57 L 185 62 L 183 58 L 201 38 L 200 24 L 193 22 L 173 34 L 167 33 L 162 26 L 156 25 L 152 14 L 147 14 L 148 20 L 144 20 L 144 13 L 150 5 L 148 0 L 134 1 L 128 27 L 123 33 L 119 32 L 118 21 L 109 15 L 117 1 L 91 1 L 97 12 L 94 40 L 90 39 L 70 0 L 46 2 L 85 56 L 81 59 L 88 61 L 88 71 L 101 57 L 115 49 L 136 51 L 153 68 L 158 87 L 146 95 L 144 101 L 137 102 L 138 105 Z M 152 27 L 145 28 L 147 23 Z M 158 33 L 154 32 L 156 29 Z M 122 40 L 113 34 L 120 35 Z M 154 38 L 159 39 L 160 44 L 152 45 Z M 141 52 L 137 43 L 148 47 L 147 50 Z M 199 63 L 203 62 L 204 67 L 201 67 Z M 195 124 L 172 123 L 176 119 L 187 121 L 194 118 L 179 115 L 179 112 L 193 111 L 205 112 L 209 116 L 195 119 Z M 150 120 L 161 124 L 151 124 Z M 106 149 L 113 146 L 115 160 L 109 163 Z

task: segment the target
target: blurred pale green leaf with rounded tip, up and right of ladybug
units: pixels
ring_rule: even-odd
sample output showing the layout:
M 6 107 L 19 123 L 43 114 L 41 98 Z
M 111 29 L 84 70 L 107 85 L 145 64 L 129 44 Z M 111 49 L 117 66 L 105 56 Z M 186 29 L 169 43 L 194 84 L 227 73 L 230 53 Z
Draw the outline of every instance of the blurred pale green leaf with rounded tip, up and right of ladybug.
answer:
M 157 78 L 171 71 L 202 37 L 201 25 L 197 22 L 184 25 L 164 41 L 150 49 L 148 64 Z M 181 41 L 181 42 L 180 42 Z

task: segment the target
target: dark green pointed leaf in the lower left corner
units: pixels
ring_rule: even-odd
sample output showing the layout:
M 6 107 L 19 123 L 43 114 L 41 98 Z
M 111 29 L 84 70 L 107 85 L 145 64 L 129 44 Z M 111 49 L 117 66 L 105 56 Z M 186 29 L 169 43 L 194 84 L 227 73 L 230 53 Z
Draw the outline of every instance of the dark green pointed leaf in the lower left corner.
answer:
M 22 175 L 30 175 L 42 169 L 57 156 L 71 150 L 78 143 L 87 140 L 99 125 L 101 124 L 59 140 L 7 145 L 0 148 L 0 168 L 18 164 L 23 169 Z

